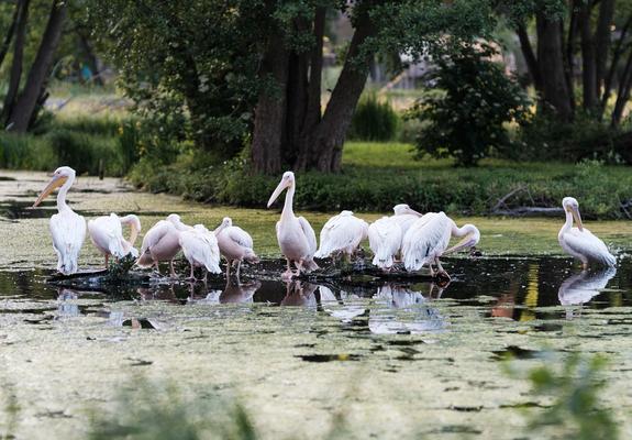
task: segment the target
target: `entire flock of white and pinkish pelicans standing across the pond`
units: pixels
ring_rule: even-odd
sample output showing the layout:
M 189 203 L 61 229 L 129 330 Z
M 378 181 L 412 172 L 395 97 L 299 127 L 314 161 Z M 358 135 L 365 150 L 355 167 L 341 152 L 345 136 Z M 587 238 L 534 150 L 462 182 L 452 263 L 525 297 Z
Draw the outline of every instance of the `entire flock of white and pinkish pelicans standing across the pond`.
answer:
M 191 266 L 191 278 L 195 267 L 203 267 L 207 272 L 219 274 L 220 257 L 226 260 L 226 277 L 231 266 L 240 266 L 245 260 L 258 262 L 253 250 L 253 239 L 243 229 L 233 226 L 230 218 L 213 231 L 202 224 L 190 227 L 185 224 L 178 215 L 170 215 L 166 220 L 158 221 L 145 237 L 141 251 L 134 249 L 134 242 L 141 232 L 141 221 L 134 215 L 119 217 L 115 213 L 99 217 L 88 221 L 74 212 L 66 204 L 66 195 L 75 182 L 75 170 L 62 166 L 55 170 L 53 178 L 44 188 L 33 207 L 36 207 L 56 188 L 57 211 L 51 218 L 51 234 L 53 246 L 58 256 L 57 271 L 69 275 L 78 271 L 79 251 L 84 244 L 86 229 L 92 243 L 106 256 L 106 266 L 110 256 L 122 258 L 132 255 L 141 267 L 156 267 L 159 262 L 169 262 L 170 274 L 174 272 L 174 258 L 182 251 Z M 393 263 L 401 261 L 407 271 L 414 272 L 428 265 L 432 276 L 448 277 L 443 270 L 440 257 L 466 248 L 474 248 L 480 233 L 474 224 L 457 228 L 456 223 L 443 212 L 421 215 L 408 205 L 397 205 L 395 215 L 382 217 L 370 226 L 358 219 L 351 211 L 342 211 L 331 218 L 320 234 L 320 249 L 313 228 L 304 217 L 293 213 L 292 201 L 296 191 L 296 179 L 291 172 L 284 174 L 281 182 L 268 200 L 268 208 L 280 194 L 287 189 L 280 220 L 276 224 L 277 240 L 280 251 L 287 261 L 284 279 L 290 279 L 302 273 L 310 273 L 319 266 L 315 258 L 343 255 L 351 258 L 363 240 L 368 238 L 374 253 L 373 264 L 385 271 L 390 271 Z M 606 244 L 584 228 L 579 215 L 579 205 L 572 197 L 562 202 L 566 222 L 559 230 L 559 244 L 568 254 L 579 258 L 584 268 L 588 264 L 614 266 L 616 258 Z M 574 221 L 577 227 L 574 228 Z M 129 226 L 130 239 L 123 237 L 123 226 Z M 448 248 L 452 237 L 462 238 L 456 245 Z M 291 264 L 295 265 L 292 271 Z M 436 265 L 437 271 L 433 268 Z

